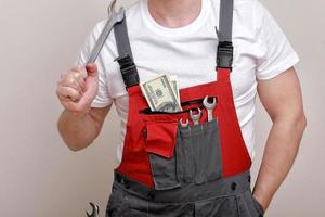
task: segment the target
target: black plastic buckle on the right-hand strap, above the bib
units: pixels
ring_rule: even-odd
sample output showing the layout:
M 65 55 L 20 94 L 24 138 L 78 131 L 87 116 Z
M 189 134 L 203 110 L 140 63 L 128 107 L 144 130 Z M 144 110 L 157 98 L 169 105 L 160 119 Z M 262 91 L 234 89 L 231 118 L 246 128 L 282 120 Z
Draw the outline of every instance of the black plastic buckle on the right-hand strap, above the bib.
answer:
M 220 41 L 217 51 L 217 69 L 229 68 L 233 69 L 234 47 L 231 41 Z

